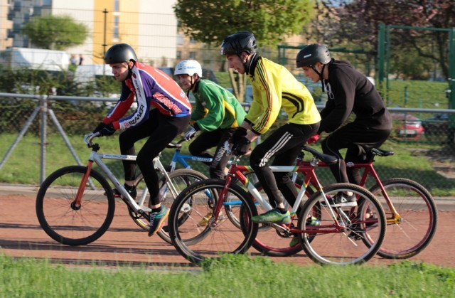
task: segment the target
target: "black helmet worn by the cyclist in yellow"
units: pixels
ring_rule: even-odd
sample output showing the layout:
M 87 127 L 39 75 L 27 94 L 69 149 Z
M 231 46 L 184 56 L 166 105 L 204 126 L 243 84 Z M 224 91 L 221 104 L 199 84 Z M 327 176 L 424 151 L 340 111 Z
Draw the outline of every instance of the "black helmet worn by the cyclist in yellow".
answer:
M 242 52 L 248 54 L 256 53 L 257 43 L 255 35 L 248 31 L 234 33 L 221 43 L 221 55 L 240 55 Z

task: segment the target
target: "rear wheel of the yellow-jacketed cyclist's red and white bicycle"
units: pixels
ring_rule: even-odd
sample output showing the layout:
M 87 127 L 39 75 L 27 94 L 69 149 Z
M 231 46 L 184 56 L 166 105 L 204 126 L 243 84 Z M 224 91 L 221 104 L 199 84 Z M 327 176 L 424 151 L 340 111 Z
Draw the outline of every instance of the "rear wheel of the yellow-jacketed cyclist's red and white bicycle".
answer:
M 358 198 L 358 206 L 331 208 L 323 203 L 325 196 L 333 197 L 340 191 L 353 192 Z M 321 208 L 319 225 L 311 225 L 303 220 L 314 213 L 314 208 Z M 343 220 L 343 230 L 334 229 L 335 222 L 330 210 L 335 212 L 337 220 Z M 386 226 L 384 211 L 373 193 L 350 183 L 336 183 L 324 187 L 323 192 L 317 191 L 305 202 L 299 216 L 299 229 L 314 230 L 314 233 L 301 233 L 296 237 L 306 255 L 316 263 L 360 265 L 376 255 L 384 240 Z M 370 245 L 358 245 L 367 232 Z

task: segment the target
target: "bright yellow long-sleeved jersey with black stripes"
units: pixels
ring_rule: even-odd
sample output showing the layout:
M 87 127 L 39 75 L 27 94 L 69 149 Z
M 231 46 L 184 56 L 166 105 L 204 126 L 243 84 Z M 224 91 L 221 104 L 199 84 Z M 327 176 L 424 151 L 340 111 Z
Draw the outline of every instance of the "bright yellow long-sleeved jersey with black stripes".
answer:
M 253 101 L 245 119 L 257 134 L 267 132 L 283 108 L 289 123 L 314 124 L 321 116 L 311 93 L 283 65 L 256 55 L 248 70 Z

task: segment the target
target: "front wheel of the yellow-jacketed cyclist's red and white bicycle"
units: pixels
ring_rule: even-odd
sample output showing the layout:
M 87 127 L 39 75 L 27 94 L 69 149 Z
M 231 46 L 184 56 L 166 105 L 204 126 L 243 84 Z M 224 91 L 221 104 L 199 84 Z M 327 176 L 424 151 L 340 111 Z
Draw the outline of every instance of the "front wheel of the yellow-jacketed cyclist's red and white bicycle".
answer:
M 228 188 L 228 196 L 235 196 L 241 206 L 245 206 L 238 208 L 243 212 L 237 215 L 241 228 L 228 220 L 228 216 L 223 214 L 225 209 L 221 209 L 218 220 L 213 215 L 206 221 L 205 215 L 213 214 L 218 194 L 223 188 L 225 181 L 221 179 L 196 182 L 185 188 L 171 206 L 168 227 L 172 244 L 186 260 L 196 265 L 207 257 L 216 258 L 223 253 L 245 253 L 255 239 L 257 224 L 252 223 L 251 218 L 257 215 L 257 211 L 239 185 L 232 184 Z M 180 221 L 182 213 L 188 214 L 184 223 Z

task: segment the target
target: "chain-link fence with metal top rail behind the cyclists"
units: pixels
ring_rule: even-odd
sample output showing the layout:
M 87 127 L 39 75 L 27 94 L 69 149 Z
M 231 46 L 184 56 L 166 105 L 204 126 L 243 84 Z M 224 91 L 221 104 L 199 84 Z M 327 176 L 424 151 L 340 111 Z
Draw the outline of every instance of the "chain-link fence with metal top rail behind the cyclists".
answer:
M 57 145 L 56 143 L 63 143 L 77 164 L 81 164 L 79 155 L 87 153 L 77 148 L 80 147 L 77 141 L 84 134 L 90 132 L 105 117 L 109 107 L 116 101 L 117 99 L 106 97 L 0 93 L 0 156 L 3 156 L 0 162 L 0 170 L 2 170 L 0 183 L 5 182 L 5 179 L 1 178 L 4 169 L 8 168 L 6 172 L 21 171 L 21 169 L 13 169 L 14 166 L 8 166 L 7 164 L 11 156 L 14 156 L 19 142 L 27 137 L 29 138 L 28 143 L 36 144 L 37 142 L 40 147 L 39 180 L 35 180 L 33 183 L 41 183 L 45 179 L 46 168 L 52 170 L 68 165 L 58 164 L 58 161 L 54 158 L 50 161 L 46 160 L 49 146 Z M 247 106 L 249 104 L 244 103 L 243 105 Z M 455 159 L 454 146 L 449 144 L 449 142 L 453 143 L 454 131 L 449 127 L 449 117 L 442 117 L 442 119 L 433 118 L 435 118 L 435 115 L 455 116 L 455 110 L 400 107 L 390 107 L 389 110 L 392 112 L 394 119 L 394 129 L 390 137 L 392 142 L 394 142 L 392 144 L 400 144 L 400 147 L 409 147 L 408 151 L 412 152 L 424 150 L 426 158 L 432 160 L 441 159 L 441 152 L 443 152 L 447 158 L 446 161 L 441 161 L 439 164 L 446 162 L 447 167 L 450 169 L 451 161 Z M 39 119 L 37 119 L 38 115 Z M 419 117 L 416 117 L 416 115 Z M 48 119 L 50 119 L 50 123 Z M 432 126 L 431 134 L 425 132 L 425 127 L 429 129 L 428 127 L 430 126 Z M 52 142 L 49 142 L 50 138 Z M 72 142 L 77 144 L 72 144 Z M 107 142 L 107 139 L 103 140 L 103 142 Z M 112 144 L 115 142 L 115 145 L 117 145 L 117 138 L 109 139 L 109 142 Z M 386 145 L 383 147 L 387 149 Z M 60 146 L 59 148 L 61 151 L 62 147 Z M 119 151 L 118 147 L 114 150 Z M 168 150 L 163 152 L 162 159 L 165 163 L 170 161 L 172 154 L 173 152 Z M 85 155 L 82 156 L 85 157 Z M 245 158 L 245 162 L 247 160 Z M 28 161 L 23 161 L 23 163 L 28 165 Z M 427 169 L 422 169 L 422 171 L 400 169 L 398 171 L 389 166 L 378 165 L 381 165 L 379 171 L 383 171 L 382 176 L 397 176 L 397 172 L 400 172 L 400 176 L 416 180 L 427 188 L 444 188 L 448 192 L 455 192 L 454 179 L 451 179 L 450 175 L 446 175 L 450 174 L 450 171 L 438 172 L 434 170 L 434 174 L 424 175 L 423 173 Z M 118 171 L 122 171 L 122 165 L 119 164 L 118 166 Z M 208 171 L 207 166 L 204 164 L 195 164 L 194 168 L 198 171 Z M 26 169 L 23 169 L 23 171 L 26 171 Z M 323 171 L 324 169 L 321 169 L 321 172 Z M 326 181 L 328 182 L 334 182 L 328 171 L 326 174 L 322 173 L 321 176 L 326 176 Z M 434 181 L 428 180 L 428 177 L 434 179 Z

